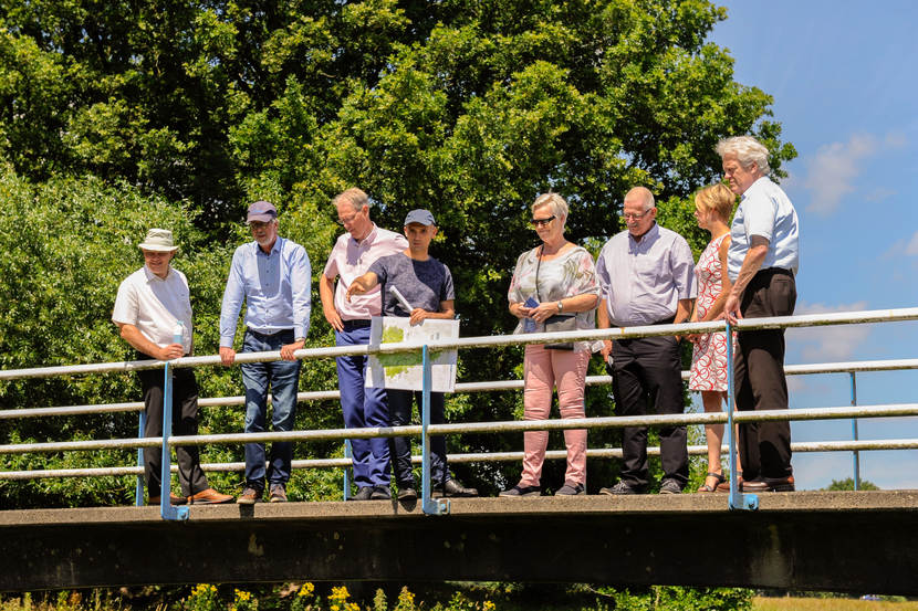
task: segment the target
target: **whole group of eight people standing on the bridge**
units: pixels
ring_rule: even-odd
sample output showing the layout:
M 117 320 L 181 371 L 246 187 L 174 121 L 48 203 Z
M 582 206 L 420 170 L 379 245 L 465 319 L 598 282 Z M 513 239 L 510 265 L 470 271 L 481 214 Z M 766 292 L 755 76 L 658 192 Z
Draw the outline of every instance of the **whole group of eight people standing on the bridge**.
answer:
M 514 333 L 635 327 L 708 322 L 727 318 L 787 316 L 796 301 L 794 275 L 799 264 L 799 221 L 784 191 L 769 179 L 769 151 L 754 138 L 740 136 L 719 143 L 727 185 L 701 189 L 695 197 L 696 219 L 711 241 L 696 264 L 686 240 L 656 222 L 653 193 L 629 190 L 623 218 L 627 229 L 614 235 L 593 260 L 564 238 L 568 215 L 557 193 L 532 203 L 531 223 L 541 243 L 517 261 L 508 298 L 520 319 Z M 730 222 L 737 196 L 740 204 Z M 411 325 L 427 318 L 455 317 L 455 291 L 449 267 L 429 254 L 437 223 L 429 210 L 411 210 L 404 234 L 371 220 L 371 200 L 352 188 L 333 204 L 345 232 L 337 239 L 319 282 L 325 319 L 337 346 L 369 343 L 375 316 L 408 317 Z M 247 223 L 253 241 L 239 246 L 230 265 L 220 313 L 220 359 L 236 360 L 233 341 L 246 304 L 242 352 L 280 351 L 281 360 L 242 362 L 247 433 L 271 429 L 292 431 L 301 361 L 311 314 L 311 267 L 305 249 L 279 235 L 278 211 L 267 201 L 249 207 Z M 186 276 L 170 265 L 178 246 L 171 232 L 152 229 L 139 244 L 144 266 L 119 286 L 113 322 L 137 350 L 138 359 L 171 360 L 192 351 L 191 305 Z M 392 291 L 392 287 L 397 291 Z M 586 369 L 599 351 L 613 378 L 618 415 L 681 413 L 684 410 L 679 341 L 693 344 L 689 389 L 701 392 L 706 411 L 720 411 L 727 399 L 727 346 L 733 343 L 734 390 L 739 410 L 787 408 L 783 372 L 783 329 L 748 330 L 728 338 L 726 331 L 617 339 L 530 344 L 524 357 L 524 419 L 549 418 L 557 391 L 562 418 L 584 418 Z M 341 405 L 347 429 L 398 426 L 411 420 L 420 393 L 368 388 L 367 357 L 336 358 Z M 158 369 L 138 371 L 145 402 L 145 436 L 161 435 L 164 376 Z M 174 369 L 173 431 L 197 434 L 198 388 L 190 368 Z M 434 392 L 430 422 L 445 421 L 445 398 Z M 791 434 L 786 421 L 739 425 L 740 489 L 793 491 Z M 708 474 L 701 493 L 727 489 L 720 449 L 723 425 L 706 426 Z M 556 495 L 586 494 L 586 431 L 565 430 L 567 468 Z M 682 492 L 688 483 L 685 425 L 659 429 L 664 471 L 660 494 Z M 354 501 L 392 498 L 392 478 L 399 501 L 417 497 L 407 438 L 350 440 Z M 547 432 L 524 433 L 519 483 L 500 496 L 542 494 L 542 464 Z M 197 446 L 176 447 L 181 496 L 173 504 L 252 504 L 267 498 L 286 501 L 293 449 L 290 442 L 246 444 L 246 484 L 238 498 L 215 491 L 204 474 Z M 159 504 L 161 452 L 144 450 L 148 503 Z M 646 493 L 647 426 L 627 426 L 623 434 L 620 478 L 599 494 Z M 392 474 L 390 474 L 392 472 Z M 431 440 L 435 494 L 477 496 L 451 477 L 446 441 Z M 165 487 L 168 489 L 169 483 Z

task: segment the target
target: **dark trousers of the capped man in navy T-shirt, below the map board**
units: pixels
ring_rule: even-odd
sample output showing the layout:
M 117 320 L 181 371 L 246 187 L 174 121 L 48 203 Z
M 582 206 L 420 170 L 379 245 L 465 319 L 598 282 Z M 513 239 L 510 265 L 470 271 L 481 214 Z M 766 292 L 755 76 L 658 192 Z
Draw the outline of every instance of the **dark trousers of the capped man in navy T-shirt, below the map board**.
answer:
M 389 401 L 389 418 L 393 426 L 404 426 L 411 423 L 411 403 L 417 399 L 418 412 L 421 410 L 424 392 L 414 390 L 386 389 Z M 442 392 L 430 393 L 430 423 L 446 422 Z M 392 438 L 393 472 L 395 483 L 399 488 L 414 487 L 415 476 L 411 473 L 411 439 Z M 446 483 L 449 478 L 446 466 L 446 438 L 434 435 L 430 438 L 430 480 L 435 486 Z

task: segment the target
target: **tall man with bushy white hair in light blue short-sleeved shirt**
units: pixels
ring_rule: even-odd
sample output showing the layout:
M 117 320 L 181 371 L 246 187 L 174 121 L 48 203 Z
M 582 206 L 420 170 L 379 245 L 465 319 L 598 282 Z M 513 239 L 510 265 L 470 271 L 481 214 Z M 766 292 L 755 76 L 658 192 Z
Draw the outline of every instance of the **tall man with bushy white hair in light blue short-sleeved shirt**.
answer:
M 800 225 L 791 200 L 768 175 L 769 150 L 755 138 L 721 140 L 717 152 L 730 190 L 741 196 L 730 229 L 728 274 L 733 282 L 723 314 L 740 318 L 790 316 L 796 303 Z M 784 329 L 742 331 L 733 364 L 737 408 L 787 409 Z M 740 424 L 740 461 L 745 492 L 794 489 L 791 425 L 787 421 Z

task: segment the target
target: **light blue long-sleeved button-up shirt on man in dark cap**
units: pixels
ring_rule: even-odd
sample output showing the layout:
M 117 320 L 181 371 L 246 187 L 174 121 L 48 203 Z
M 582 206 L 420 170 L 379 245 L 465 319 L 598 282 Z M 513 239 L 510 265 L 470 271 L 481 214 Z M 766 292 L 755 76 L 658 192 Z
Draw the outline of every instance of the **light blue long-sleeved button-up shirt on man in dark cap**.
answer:
M 268 254 L 258 242 L 236 249 L 220 308 L 220 346 L 232 347 L 243 301 L 250 329 L 268 335 L 293 329 L 294 337 L 306 337 L 311 280 L 310 257 L 295 242 L 278 236 Z

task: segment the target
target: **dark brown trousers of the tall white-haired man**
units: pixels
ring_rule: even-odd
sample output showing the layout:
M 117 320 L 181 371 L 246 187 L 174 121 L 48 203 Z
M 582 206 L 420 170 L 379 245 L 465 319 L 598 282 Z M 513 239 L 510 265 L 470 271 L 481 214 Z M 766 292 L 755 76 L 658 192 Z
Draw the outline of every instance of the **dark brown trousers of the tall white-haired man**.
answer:
M 771 267 L 755 274 L 743 292 L 743 318 L 790 316 L 796 303 L 796 283 L 791 272 Z M 741 331 L 737 338 L 733 379 L 737 409 L 786 410 L 784 378 L 784 329 Z M 740 461 L 743 480 L 782 478 L 791 468 L 791 424 L 751 422 L 740 424 Z

